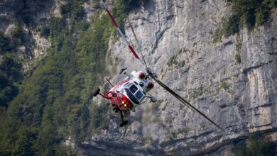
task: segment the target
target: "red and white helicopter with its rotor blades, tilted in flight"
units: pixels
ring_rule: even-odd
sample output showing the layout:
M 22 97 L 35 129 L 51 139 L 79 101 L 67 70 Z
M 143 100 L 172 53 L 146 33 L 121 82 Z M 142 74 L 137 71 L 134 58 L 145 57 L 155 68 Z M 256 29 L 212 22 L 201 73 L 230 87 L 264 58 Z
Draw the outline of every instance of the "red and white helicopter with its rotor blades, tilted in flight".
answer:
M 223 128 L 218 126 L 214 121 L 212 121 L 210 118 L 208 118 L 204 113 L 199 111 L 197 108 L 192 106 L 188 101 L 183 99 L 181 96 L 175 93 L 172 89 L 167 87 L 163 82 L 161 82 L 158 79 L 158 76 L 153 70 L 151 70 L 149 67 L 147 67 L 146 62 L 143 58 L 139 57 L 139 55 L 136 54 L 136 51 L 131 46 L 129 41 L 126 39 L 126 36 L 119 28 L 119 25 L 116 23 L 114 17 L 112 16 L 112 13 L 109 11 L 108 7 L 104 4 L 104 1 L 102 1 L 102 4 L 104 6 L 104 9 L 106 9 L 109 18 L 111 19 L 112 23 L 114 23 L 114 26 L 119 32 L 119 35 L 121 35 L 121 38 L 124 39 L 124 42 L 129 47 L 129 50 L 132 52 L 134 57 L 136 57 L 136 60 L 139 60 L 141 65 L 143 66 L 143 71 L 132 71 L 131 74 L 126 77 L 122 82 L 119 84 L 116 84 L 115 86 L 107 79 L 107 82 L 112 86 L 112 89 L 110 89 L 108 92 L 105 92 L 104 94 L 100 94 L 100 89 L 97 89 L 94 91 L 93 96 L 100 95 L 104 99 L 108 99 L 111 103 L 111 105 L 114 107 L 115 112 L 119 112 L 121 116 L 121 124 L 119 126 L 125 126 L 128 121 L 124 121 L 124 116 L 129 115 L 130 111 L 136 111 L 136 106 L 139 106 L 143 104 L 145 98 L 150 98 L 151 102 L 156 102 L 157 99 L 154 96 L 147 96 L 146 93 L 153 89 L 154 84 L 153 81 L 157 82 L 161 85 L 165 90 L 169 91 L 170 94 L 175 96 L 180 102 L 185 104 L 185 106 L 188 106 L 188 108 L 192 109 L 192 111 L 197 111 L 197 113 L 200 113 L 203 117 L 205 117 L 208 121 L 210 121 L 214 126 L 217 126 L 217 128 L 224 131 Z M 133 30 L 133 28 L 132 28 Z M 134 33 L 134 30 L 133 30 Z M 136 38 L 136 34 L 134 33 L 134 36 Z M 123 73 L 126 70 L 126 68 L 121 69 L 119 74 Z M 116 77 L 119 75 L 117 74 Z

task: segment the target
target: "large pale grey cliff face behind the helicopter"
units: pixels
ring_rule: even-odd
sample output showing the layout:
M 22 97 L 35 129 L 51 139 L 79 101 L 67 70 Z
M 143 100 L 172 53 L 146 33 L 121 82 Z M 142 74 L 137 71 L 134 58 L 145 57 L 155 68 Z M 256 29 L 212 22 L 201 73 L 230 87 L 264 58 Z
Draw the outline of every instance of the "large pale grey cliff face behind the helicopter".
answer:
M 129 15 L 141 41 L 134 45 L 148 66 L 226 132 L 156 84 L 151 94 L 158 96 L 158 104 L 146 101 L 125 128 L 111 117 L 109 130 L 93 134 L 80 146 L 81 153 L 232 155 L 233 143 L 246 139 L 249 132 L 268 130 L 268 136 L 275 136 L 276 13 L 270 25 L 252 31 L 245 28 L 214 43 L 214 31 L 229 13 L 230 6 L 220 0 L 153 0 Z M 131 42 L 135 40 L 129 24 L 125 32 Z M 136 66 L 123 40 L 111 43 L 109 57 L 121 58 L 119 69 Z

